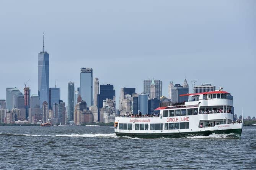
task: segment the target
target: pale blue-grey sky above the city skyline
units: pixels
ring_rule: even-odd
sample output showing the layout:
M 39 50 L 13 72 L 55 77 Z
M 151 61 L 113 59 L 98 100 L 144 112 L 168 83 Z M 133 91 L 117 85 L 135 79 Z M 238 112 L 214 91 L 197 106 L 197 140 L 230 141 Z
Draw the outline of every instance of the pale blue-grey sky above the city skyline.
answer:
M 50 87 L 79 86 L 80 67 L 100 84 L 143 91 L 143 80 L 212 83 L 256 116 L 256 1 L 0 1 L 0 98 L 6 87 L 38 91 L 38 53 L 50 54 Z

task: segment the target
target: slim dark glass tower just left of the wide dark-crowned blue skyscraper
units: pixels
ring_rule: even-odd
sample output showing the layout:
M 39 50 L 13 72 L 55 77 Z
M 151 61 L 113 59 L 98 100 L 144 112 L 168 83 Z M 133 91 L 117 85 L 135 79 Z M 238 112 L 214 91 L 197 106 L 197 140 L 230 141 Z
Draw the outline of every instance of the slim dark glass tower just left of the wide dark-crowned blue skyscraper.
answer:
M 68 82 L 68 122 L 74 120 L 75 109 L 75 84 Z

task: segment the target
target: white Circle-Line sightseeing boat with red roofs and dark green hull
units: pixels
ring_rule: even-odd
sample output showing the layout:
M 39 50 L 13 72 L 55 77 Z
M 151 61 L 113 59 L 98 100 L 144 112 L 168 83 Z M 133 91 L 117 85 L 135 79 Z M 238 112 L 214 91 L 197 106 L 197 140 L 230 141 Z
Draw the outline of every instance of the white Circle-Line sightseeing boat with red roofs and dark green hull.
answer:
M 233 121 L 233 96 L 226 91 L 186 94 L 188 102 L 158 107 L 158 116 L 116 117 L 117 136 L 139 138 L 179 138 L 212 133 L 241 136 L 243 123 Z

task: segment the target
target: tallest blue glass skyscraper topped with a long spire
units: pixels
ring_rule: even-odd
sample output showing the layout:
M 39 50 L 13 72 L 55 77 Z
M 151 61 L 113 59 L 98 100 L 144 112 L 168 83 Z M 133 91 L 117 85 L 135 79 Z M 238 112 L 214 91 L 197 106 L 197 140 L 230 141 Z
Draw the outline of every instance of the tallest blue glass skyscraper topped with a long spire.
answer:
M 43 50 L 38 54 L 38 96 L 40 106 L 46 101 L 49 103 L 49 54 Z

